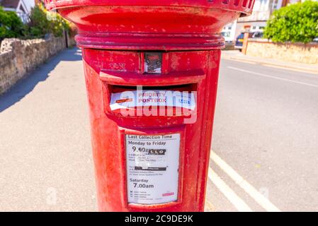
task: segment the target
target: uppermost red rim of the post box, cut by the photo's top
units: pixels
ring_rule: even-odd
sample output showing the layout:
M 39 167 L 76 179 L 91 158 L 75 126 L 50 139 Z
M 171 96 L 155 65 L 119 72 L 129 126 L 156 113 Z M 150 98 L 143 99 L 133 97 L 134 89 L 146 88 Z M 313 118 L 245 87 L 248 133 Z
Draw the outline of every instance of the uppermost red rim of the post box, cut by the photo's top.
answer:
M 220 8 L 223 10 L 237 11 L 241 16 L 251 15 L 255 0 L 45 0 L 48 10 L 79 6 L 188 6 L 199 8 Z

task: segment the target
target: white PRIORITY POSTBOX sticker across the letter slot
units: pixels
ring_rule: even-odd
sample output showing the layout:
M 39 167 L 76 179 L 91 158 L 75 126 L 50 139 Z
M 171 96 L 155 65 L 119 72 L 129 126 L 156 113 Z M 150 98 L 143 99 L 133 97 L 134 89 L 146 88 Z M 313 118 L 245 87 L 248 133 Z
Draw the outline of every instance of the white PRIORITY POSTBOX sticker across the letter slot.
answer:
M 125 109 L 127 107 L 166 106 L 195 109 L 193 93 L 173 90 L 133 90 L 112 93 L 110 109 Z

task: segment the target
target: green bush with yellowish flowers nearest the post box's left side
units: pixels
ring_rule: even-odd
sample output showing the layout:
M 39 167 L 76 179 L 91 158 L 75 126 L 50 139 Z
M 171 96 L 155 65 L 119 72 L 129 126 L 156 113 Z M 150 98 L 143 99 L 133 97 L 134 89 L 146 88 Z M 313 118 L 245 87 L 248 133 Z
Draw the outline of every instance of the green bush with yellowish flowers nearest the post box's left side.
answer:
M 69 31 L 69 23 L 59 14 L 48 12 L 42 4 L 32 9 L 28 26 L 28 35 L 31 37 L 44 37 L 47 33 L 60 37 L 63 30 Z

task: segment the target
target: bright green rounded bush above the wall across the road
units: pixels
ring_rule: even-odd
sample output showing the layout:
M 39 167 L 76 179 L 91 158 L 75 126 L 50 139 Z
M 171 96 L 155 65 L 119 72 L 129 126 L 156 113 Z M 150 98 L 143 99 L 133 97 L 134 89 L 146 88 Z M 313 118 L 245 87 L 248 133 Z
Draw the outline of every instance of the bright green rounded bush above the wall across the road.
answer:
M 274 11 L 264 37 L 273 42 L 311 42 L 318 37 L 318 2 L 305 1 Z

